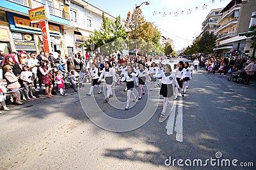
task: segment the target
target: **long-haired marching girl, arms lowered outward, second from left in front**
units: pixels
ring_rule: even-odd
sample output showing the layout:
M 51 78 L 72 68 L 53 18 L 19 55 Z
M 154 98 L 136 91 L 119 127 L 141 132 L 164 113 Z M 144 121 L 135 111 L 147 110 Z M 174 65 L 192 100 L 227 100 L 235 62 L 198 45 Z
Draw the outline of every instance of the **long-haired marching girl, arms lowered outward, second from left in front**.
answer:
M 106 97 L 106 102 L 109 101 L 109 96 L 111 95 L 112 96 L 112 83 L 113 83 L 113 78 L 115 80 L 115 83 L 116 83 L 116 76 L 115 76 L 115 72 L 112 68 L 112 65 L 109 61 L 106 61 L 105 64 L 104 64 L 104 69 L 102 70 L 102 73 L 100 74 L 100 77 L 99 77 L 99 80 L 98 82 L 100 82 L 100 80 L 103 78 L 105 78 L 106 80 L 106 84 L 107 84 L 107 89 L 108 89 L 108 92 L 107 92 L 107 97 Z

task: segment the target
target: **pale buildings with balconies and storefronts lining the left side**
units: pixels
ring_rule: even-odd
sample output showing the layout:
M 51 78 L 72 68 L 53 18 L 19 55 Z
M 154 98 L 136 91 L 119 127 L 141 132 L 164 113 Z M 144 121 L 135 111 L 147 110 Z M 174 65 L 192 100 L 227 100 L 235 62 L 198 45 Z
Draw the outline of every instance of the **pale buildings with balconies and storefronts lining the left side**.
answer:
M 53 52 L 72 55 L 77 45 L 99 29 L 102 13 L 115 17 L 83 0 L 3 0 L 0 4 L 0 50 L 36 52 L 44 50 L 40 24 L 31 23 L 28 10 L 39 6 L 49 9 L 49 32 Z

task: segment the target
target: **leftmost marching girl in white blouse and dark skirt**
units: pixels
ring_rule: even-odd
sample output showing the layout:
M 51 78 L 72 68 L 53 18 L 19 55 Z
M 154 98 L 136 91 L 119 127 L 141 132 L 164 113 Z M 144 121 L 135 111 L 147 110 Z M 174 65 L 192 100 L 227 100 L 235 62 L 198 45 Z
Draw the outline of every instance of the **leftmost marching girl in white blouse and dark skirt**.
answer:
M 90 70 L 90 73 L 92 75 L 92 85 L 91 85 L 91 88 L 90 88 L 90 92 L 88 94 L 86 94 L 87 96 L 91 96 L 94 85 L 98 86 L 98 88 L 99 88 L 98 94 L 101 94 L 100 81 L 98 82 L 98 80 L 99 80 L 99 74 L 98 74 L 99 73 L 99 69 L 98 69 L 98 66 L 97 66 L 97 64 L 95 62 L 93 62 L 91 65 L 92 65 L 91 66 L 92 68 Z

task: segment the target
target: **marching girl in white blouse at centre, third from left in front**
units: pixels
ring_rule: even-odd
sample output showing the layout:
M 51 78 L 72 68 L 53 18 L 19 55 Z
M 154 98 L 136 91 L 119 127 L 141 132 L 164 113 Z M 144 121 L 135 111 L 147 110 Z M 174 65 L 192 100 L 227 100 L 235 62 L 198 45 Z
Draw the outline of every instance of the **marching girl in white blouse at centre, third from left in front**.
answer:
M 137 99 L 134 92 L 132 92 L 132 89 L 134 88 L 135 77 L 136 77 L 136 73 L 134 73 L 134 69 L 133 69 L 132 65 L 129 64 L 127 66 L 127 73 L 124 74 L 124 76 L 121 79 L 121 81 L 126 80 L 126 87 L 127 87 L 127 105 L 125 106 L 125 110 L 129 109 L 131 94 L 134 97 L 134 99 L 132 100 L 133 102 L 135 102 Z

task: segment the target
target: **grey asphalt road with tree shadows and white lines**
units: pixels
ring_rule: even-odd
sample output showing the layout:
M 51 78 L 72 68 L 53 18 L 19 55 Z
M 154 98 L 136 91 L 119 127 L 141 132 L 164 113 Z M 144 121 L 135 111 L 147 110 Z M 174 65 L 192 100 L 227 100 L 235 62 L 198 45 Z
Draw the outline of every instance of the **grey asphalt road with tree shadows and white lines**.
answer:
M 244 86 L 227 81 L 227 76 L 218 78 L 202 70 L 194 71 L 185 97 L 179 94 L 177 103 L 170 100 L 170 116 L 162 123 L 159 88 L 148 91 L 141 101 L 131 102 L 129 110 L 124 110 L 123 85 L 114 91 L 120 103 L 115 102 L 115 97 L 106 103 L 96 87 L 94 96 L 85 96 L 88 83 L 79 94 L 68 89 L 63 97 L 40 96 L 22 106 L 9 105 L 11 110 L 0 114 L 0 169 L 255 169 L 255 84 Z M 153 104 L 148 106 L 149 100 Z M 157 108 L 148 111 L 148 122 L 137 129 L 113 132 L 93 124 L 86 116 L 90 114 L 101 126 L 112 127 L 96 109 L 92 111 L 95 103 L 109 117 L 124 120 L 152 105 Z M 115 128 L 120 127 L 125 124 L 118 123 Z M 171 162 L 176 159 L 174 166 L 165 165 L 170 157 Z M 215 166 L 211 166 L 211 158 L 216 159 Z M 184 166 L 178 165 L 178 159 Z M 195 164 L 202 160 L 203 166 L 193 166 L 195 159 Z M 221 166 L 223 159 L 230 159 L 230 167 Z M 234 159 L 237 167 L 232 165 Z M 254 165 L 238 167 L 241 162 Z

